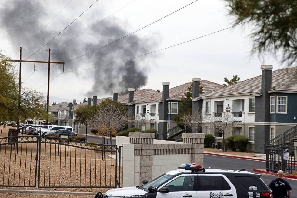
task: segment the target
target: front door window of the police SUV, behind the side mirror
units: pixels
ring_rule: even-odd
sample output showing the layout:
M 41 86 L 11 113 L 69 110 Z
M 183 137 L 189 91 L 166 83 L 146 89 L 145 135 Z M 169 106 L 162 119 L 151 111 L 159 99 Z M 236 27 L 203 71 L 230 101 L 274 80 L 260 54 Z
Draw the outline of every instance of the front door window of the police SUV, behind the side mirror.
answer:
M 165 186 L 169 188 L 169 192 L 193 191 L 194 179 L 195 179 L 194 175 L 181 176 L 169 182 Z

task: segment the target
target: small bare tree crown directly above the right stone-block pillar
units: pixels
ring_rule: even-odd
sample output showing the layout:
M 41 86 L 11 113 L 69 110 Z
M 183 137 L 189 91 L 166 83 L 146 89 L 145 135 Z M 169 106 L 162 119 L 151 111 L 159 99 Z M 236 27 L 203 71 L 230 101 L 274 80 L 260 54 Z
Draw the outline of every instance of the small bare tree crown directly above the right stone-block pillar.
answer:
M 202 126 L 202 111 L 200 109 L 195 109 L 194 111 L 185 112 L 182 117 L 180 123 L 183 126 L 190 127 L 195 129 L 196 133 L 199 132 L 199 129 Z

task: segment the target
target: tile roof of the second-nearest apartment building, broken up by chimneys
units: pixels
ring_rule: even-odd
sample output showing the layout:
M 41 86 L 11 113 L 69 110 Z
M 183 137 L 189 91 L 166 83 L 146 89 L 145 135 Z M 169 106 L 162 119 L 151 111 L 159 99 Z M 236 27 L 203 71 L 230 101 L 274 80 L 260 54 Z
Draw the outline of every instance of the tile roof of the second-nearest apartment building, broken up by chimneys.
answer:
M 169 89 L 169 98 L 172 100 L 181 100 L 182 96 L 185 96 L 185 93 L 188 92 L 188 87 L 191 86 L 192 82 L 187 82 L 185 84 L 173 87 Z M 203 87 L 203 92 L 207 93 L 210 91 L 213 91 L 215 89 L 219 89 L 222 87 L 222 85 L 217 84 L 215 82 L 211 82 L 208 80 L 201 80 L 200 86 Z M 162 92 L 157 92 L 151 96 L 135 100 L 135 103 L 141 103 L 141 102 L 155 102 L 155 101 L 161 101 L 162 100 Z

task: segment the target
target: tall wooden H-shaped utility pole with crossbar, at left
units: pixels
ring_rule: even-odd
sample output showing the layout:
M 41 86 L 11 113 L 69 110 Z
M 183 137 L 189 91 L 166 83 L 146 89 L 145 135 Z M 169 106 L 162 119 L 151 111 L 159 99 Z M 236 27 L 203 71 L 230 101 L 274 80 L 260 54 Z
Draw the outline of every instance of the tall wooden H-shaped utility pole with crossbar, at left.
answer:
M 48 61 L 30 61 L 30 60 L 22 60 L 22 47 L 20 47 L 20 59 L 19 60 L 5 60 L 6 62 L 20 62 L 20 73 L 18 79 L 18 120 L 17 120 L 17 128 L 20 124 L 20 112 L 21 112 L 21 71 L 22 71 L 22 62 L 34 62 L 34 63 L 48 63 L 48 94 L 47 94 L 47 104 L 46 104 L 46 112 L 48 113 L 49 109 L 49 72 L 50 66 L 52 64 L 65 64 L 65 62 L 53 62 L 51 61 L 51 49 L 48 49 Z M 64 66 L 63 66 L 64 71 Z M 46 124 L 48 124 L 48 118 L 46 119 Z

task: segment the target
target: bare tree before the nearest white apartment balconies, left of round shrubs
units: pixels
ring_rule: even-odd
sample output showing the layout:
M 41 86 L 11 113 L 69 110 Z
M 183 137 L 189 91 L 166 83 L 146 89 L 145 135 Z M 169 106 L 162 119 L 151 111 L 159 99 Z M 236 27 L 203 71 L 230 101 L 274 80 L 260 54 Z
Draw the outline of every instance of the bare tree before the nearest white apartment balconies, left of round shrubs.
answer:
M 231 133 L 234 126 L 234 116 L 233 112 L 223 112 L 222 116 L 220 114 L 212 113 L 211 115 L 205 115 L 204 120 L 212 125 L 214 132 L 219 132 L 223 137 L 223 151 L 227 151 L 225 148 L 225 134 Z

